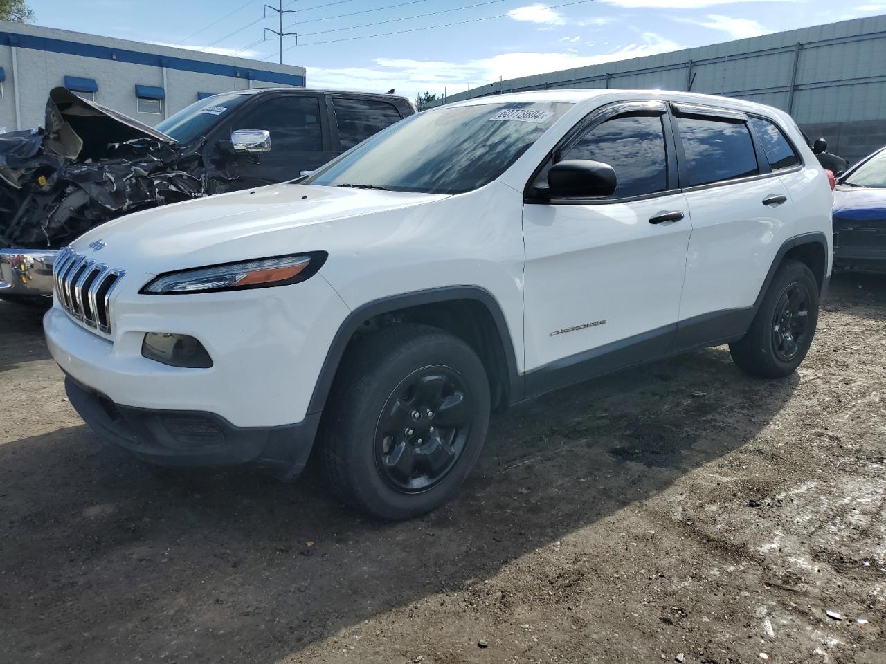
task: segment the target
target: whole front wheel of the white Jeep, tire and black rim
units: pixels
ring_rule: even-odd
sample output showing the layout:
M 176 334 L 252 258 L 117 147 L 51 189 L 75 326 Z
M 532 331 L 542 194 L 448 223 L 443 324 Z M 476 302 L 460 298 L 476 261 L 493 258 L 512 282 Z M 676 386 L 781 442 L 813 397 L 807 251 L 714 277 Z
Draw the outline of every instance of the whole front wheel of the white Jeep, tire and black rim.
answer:
M 382 329 L 342 359 L 321 463 L 347 505 L 398 521 L 451 498 L 477 463 L 489 382 L 477 354 L 425 325 Z

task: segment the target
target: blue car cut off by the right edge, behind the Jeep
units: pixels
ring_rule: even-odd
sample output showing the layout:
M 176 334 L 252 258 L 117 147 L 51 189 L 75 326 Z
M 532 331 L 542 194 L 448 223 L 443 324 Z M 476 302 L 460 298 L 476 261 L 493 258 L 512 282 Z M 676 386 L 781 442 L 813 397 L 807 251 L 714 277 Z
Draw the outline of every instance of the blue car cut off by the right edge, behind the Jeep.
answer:
M 886 147 L 837 180 L 834 268 L 886 274 Z

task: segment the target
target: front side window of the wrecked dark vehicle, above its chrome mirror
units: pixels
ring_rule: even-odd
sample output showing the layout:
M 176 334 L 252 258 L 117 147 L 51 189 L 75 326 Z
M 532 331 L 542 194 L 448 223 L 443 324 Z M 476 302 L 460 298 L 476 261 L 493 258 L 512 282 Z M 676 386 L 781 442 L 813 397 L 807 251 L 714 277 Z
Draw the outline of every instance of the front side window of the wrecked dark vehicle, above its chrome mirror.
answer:
M 323 150 L 318 97 L 272 97 L 248 109 L 231 129 L 267 129 L 274 152 Z

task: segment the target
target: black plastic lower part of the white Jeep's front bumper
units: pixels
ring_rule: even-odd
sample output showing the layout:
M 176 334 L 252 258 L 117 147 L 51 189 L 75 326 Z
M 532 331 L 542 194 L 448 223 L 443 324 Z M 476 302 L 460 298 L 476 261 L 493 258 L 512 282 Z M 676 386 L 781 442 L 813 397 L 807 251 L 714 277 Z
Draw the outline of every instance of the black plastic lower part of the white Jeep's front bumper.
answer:
M 320 424 L 320 413 L 283 427 L 235 427 L 214 413 L 122 406 L 71 376 L 65 390 L 98 436 L 160 466 L 251 463 L 291 480 L 307 464 Z

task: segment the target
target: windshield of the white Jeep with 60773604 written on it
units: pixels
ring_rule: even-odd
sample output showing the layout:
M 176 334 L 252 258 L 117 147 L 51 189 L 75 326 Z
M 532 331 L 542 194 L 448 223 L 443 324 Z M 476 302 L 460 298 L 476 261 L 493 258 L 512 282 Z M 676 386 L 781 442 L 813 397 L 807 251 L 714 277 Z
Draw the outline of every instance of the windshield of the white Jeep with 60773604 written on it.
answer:
M 571 104 L 443 107 L 401 120 L 303 184 L 460 194 L 493 181 Z

